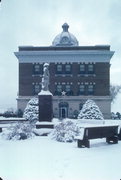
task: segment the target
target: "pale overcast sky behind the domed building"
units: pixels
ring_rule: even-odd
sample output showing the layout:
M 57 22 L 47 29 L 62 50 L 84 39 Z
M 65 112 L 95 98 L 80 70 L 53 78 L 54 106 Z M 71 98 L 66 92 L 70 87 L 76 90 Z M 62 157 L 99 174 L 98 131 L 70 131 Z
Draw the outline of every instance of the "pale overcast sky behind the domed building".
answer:
M 111 83 L 121 84 L 121 0 L 2 0 L 0 109 L 16 107 L 18 46 L 51 45 L 65 22 L 80 46 L 111 45 Z M 112 110 L 121 112 L 121 95 Z

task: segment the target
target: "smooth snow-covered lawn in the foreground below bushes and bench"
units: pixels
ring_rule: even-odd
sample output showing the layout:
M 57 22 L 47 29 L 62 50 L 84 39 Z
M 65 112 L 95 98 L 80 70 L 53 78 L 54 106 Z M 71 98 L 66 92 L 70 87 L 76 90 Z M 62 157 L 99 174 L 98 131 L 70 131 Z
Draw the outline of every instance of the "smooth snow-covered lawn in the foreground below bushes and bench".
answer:
M 91 141 L 91 148 L 49 137 L 0 139 L 0 177 L 4 180 L 120 180 L 121 141 Z

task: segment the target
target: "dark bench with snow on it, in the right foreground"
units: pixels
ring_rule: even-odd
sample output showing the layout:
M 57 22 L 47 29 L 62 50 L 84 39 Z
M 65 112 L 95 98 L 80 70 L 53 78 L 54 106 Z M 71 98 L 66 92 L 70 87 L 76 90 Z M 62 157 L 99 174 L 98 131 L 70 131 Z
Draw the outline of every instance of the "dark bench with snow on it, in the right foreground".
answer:
M 118 125 L 84 127 L 83 137 L 76 137 L 78 147 L 90 147 L 90 139 L 106 138 L 108 144 L 118 143 Z

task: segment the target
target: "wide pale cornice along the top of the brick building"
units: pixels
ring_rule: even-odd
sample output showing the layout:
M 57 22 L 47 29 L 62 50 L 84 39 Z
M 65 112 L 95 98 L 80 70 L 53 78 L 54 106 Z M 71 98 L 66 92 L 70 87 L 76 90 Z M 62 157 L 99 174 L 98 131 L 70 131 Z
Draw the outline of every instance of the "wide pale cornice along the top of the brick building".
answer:
M 44 62 L 110 62 L 114 51 L 19 51 L 15 52 L 19 63 Z

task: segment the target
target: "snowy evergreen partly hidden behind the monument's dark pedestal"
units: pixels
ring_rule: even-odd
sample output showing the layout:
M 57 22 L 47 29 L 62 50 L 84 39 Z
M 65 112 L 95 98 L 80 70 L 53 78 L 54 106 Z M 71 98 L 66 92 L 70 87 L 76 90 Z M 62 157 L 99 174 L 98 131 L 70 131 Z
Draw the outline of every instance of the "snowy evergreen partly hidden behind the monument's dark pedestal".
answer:
M 38 98 L 32 98 L 24 110 L 23 117 L 30 122 L 36 122 L 39 114 L 39 101 Z

